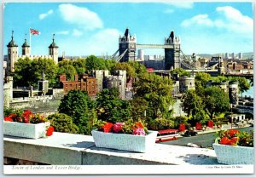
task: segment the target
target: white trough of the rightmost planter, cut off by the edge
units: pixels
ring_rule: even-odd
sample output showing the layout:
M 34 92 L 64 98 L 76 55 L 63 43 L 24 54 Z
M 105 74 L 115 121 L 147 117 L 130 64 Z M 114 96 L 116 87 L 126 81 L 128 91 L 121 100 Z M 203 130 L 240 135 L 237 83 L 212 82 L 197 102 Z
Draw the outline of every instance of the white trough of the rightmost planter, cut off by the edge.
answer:
M 213 144 L 218 163 L 253 164 L 253 147 Z

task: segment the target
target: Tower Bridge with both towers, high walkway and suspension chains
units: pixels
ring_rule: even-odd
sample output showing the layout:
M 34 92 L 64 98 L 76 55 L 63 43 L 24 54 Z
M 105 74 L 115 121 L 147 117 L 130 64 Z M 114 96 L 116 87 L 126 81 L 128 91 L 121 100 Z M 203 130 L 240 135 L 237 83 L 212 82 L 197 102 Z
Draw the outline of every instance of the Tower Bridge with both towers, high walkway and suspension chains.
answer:
M 137 49 L 164 49 L 165 58 L 164 66 L 159 72 L 171 71 L 180 68 L 194 71 L 212 71 L 212 67 L 197 68 L 189 62 L 189 58 L 183 54 L 180 47 L 181 41 L 179 37 L 175 37 L 174 31 L 171 31 L 169 37 L 165 37 L 164 44 L 143 44 L 137 43 L 136 35 L 131 36 L 129 28 L 126 28 L 123 37 L 119 37 L 119 49 L 112 55 L 119 62 L 134 61 L 137 56 Z M 116 57 L 116 54 L 119 56 Z M 219 65 L 219 64 L 217 64 Z M 221 67 L 221 65 L 219 65 Z M 215 70 L 214 70 L 215 72 Z

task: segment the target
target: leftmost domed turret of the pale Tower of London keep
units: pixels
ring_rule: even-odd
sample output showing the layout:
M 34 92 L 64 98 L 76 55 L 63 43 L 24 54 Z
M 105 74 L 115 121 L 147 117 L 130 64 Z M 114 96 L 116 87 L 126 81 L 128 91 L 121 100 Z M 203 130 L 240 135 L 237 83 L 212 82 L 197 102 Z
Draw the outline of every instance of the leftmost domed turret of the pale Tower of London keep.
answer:
M 15 71 L 15 62 L 18 60 L 18 45 L 14 41 L 14 31 L 12 31 L 12 40 L 7 45 L 8 48 L 8 61 L 7 73 Z

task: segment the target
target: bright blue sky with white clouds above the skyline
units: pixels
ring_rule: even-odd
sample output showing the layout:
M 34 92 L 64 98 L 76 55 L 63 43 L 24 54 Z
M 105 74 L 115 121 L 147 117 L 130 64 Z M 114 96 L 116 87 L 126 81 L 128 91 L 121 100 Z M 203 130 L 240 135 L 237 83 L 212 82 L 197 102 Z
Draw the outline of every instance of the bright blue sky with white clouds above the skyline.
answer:
M 145 44 L 163 44 L 173 30 L 185 54 L 253 52 L 252 3 L 6 3 L 3 54 L 12 30 L 21 53 L 30 27 L 41 33 L 32 54 L 48 54 L 53 33 L 59 54 L 113 54 L 126 27 Z

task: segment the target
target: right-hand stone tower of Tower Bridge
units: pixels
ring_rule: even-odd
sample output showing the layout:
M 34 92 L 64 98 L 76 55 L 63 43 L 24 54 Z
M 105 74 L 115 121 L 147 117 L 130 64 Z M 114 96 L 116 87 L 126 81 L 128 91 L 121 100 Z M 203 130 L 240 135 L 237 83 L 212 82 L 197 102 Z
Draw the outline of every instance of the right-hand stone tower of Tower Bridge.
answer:
M 174 36 L 174 31 L 165 38 L 165 45 L 172 45 L 172 49 L 165 49 L 165 70 L 180 68 L 180 39 Z

